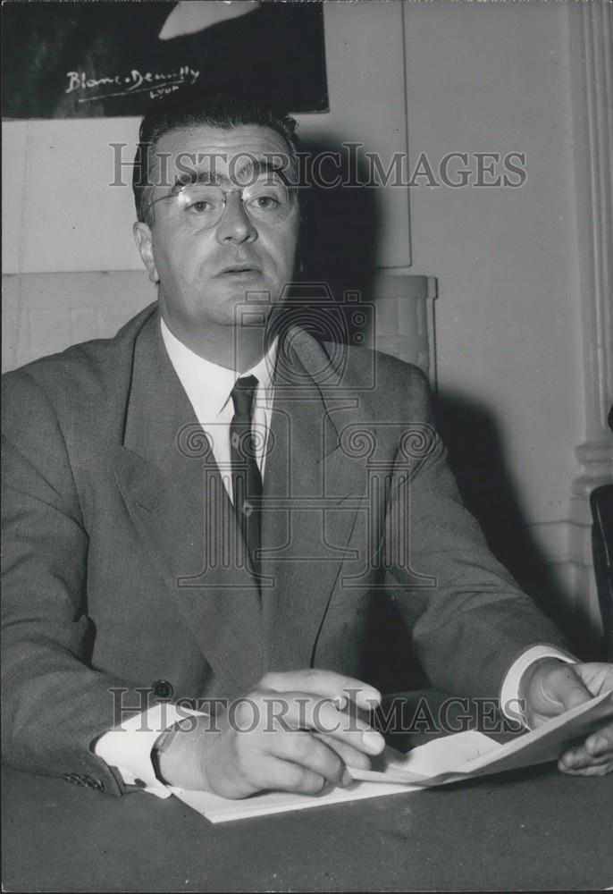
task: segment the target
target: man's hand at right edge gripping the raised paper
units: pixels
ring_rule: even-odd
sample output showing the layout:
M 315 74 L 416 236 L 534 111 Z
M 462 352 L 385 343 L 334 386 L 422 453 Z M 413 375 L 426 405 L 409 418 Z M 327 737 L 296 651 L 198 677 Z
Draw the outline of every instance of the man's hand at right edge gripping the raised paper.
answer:
M 522 681 L 526 720 L 531 727 L 538 727 L 603 692 L 610 692 L 613 699 L 613 664 L 566 664 L 543 658 L 528 668 Z M 613 722 L 560 755 L 558 768 L 578 776 L 604 776 L 613 771 Z

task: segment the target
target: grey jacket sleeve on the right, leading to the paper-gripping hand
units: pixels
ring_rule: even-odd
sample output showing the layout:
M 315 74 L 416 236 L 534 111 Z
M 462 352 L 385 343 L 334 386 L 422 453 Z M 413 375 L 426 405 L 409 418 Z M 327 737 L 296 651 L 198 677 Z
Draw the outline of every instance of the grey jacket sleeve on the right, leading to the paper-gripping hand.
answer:
M 391 597 L 412 628 L 432 685 L 460 695 L 498 696 L 526 649 L 566 645 L 491 554 L 463 505 L 418 370 L 407 401 L 406 417 L 415 422 L 399 441 L 386 517 L 387 567 L 400 585 Z

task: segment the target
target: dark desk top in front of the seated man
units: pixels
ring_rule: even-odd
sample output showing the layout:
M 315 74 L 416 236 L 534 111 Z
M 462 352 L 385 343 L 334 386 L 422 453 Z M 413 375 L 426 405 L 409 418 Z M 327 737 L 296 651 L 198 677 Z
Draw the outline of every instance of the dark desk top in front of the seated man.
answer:
M 613 775 L 553 765 L 211 825 L 175 798 L 4 771 L 4 890 L 602 889 Z

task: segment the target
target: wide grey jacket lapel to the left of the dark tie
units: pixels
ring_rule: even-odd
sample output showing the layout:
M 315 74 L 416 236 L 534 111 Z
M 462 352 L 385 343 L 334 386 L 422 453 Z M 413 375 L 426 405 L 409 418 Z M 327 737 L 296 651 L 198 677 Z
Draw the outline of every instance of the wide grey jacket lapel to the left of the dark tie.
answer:
M 147 552 L 228 697 L 261 676 L 260 599 L 206 436 L 155 314 L 136 342 L 123 445 L 113 458 Z

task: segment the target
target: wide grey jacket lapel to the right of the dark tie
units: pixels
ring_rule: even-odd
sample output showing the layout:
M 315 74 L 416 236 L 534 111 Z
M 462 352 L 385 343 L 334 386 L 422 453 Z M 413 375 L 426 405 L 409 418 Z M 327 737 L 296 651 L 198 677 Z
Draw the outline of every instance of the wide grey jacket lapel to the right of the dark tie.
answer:
M 352 409 L 356 400 L 329 378 L 320 387 L 313 374 L 331 368 L 327 353 L 299 332 L 284 358 L 275 376 L 262 523 L 262 570 L 272 581 L 262 590 L 267 667 L 274 671 L 313 661 L 364 482 L 334 422 L 335 410 Z

